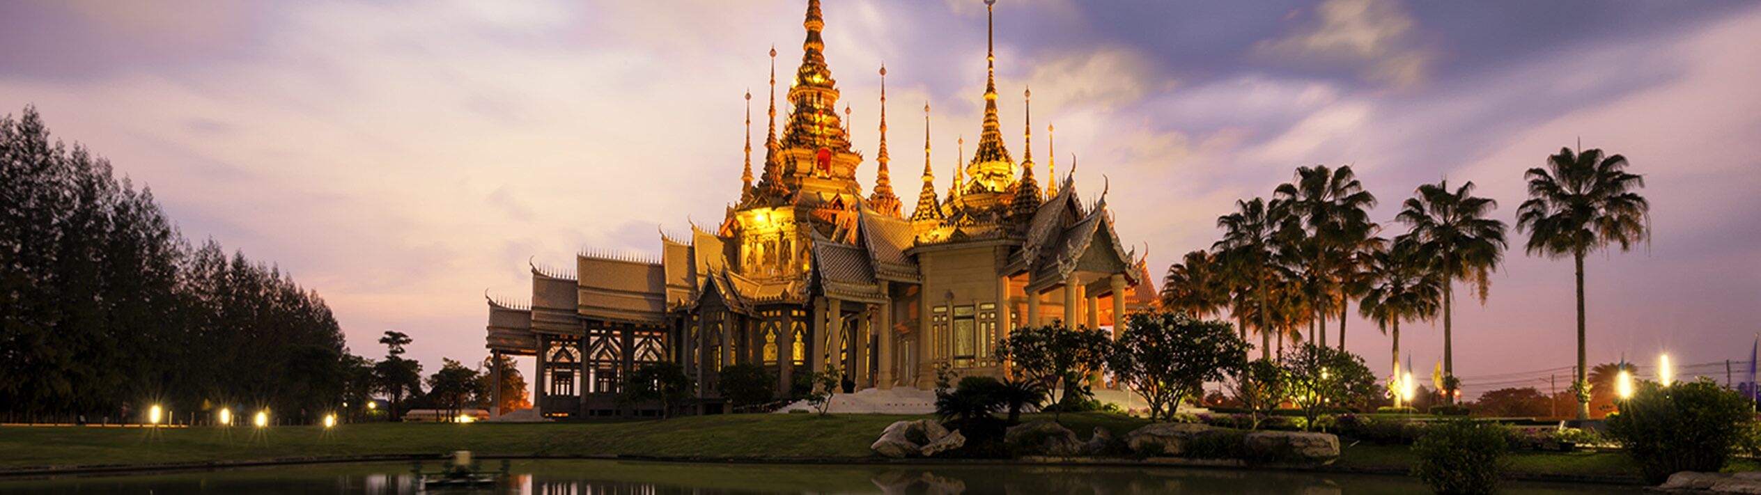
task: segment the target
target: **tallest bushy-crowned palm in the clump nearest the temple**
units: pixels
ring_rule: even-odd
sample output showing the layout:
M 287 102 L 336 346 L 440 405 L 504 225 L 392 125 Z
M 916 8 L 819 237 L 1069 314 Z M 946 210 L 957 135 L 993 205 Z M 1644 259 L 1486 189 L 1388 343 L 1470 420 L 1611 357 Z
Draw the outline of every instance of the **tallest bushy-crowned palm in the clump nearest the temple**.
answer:
M 1328 312 L 1335 305 L 1345 305 L 1340 270 L 1349 262 L 1352 248 L 1370 236 L 1375 196 L 1363 188 L 1351 166 L 1314 166 L 1296 167 L 1294 181 L 1278 185 L 1273 197 L 1289 204 L 1291 215 L 1307 231 L 1303 268 L 1315 284 L 1314 326 L 1321 331 L 1315 342 L 1326 345 Z

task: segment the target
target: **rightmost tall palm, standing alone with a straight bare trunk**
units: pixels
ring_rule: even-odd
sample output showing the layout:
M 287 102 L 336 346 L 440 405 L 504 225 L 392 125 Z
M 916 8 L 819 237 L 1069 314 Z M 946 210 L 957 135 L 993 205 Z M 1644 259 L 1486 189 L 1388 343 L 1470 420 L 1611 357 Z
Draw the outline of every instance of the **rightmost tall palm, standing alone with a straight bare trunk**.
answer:
M 1650 201 L 1638 194 L 1645 178 L 1627 173 L 1627 159 L 1603 155 L 1603 150 L 1573 153 L 1560 148 L 1546 159 L 1546 167 L 1534 167 L 1529 178 L 1529 201 L 1516 208 L 1516 229 L 1529 231 L 1525 250 L 1534 255 L 1571 257 L 1578 266 L 1578 382 L 1585 375 L 1583 338 L 1583 255 L 1606 248 L 1610 243 L 1631 250 L 1634 243 L 1650 240 Z M 1590 403 L 1578 400 L 1578 419 L 1590 419 Z

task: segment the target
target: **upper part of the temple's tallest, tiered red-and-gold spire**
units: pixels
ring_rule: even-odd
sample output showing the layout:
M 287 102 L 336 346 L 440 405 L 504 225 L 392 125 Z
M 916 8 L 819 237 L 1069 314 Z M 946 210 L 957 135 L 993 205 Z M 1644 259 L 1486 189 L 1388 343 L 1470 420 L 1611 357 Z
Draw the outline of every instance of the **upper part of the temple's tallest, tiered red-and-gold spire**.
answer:
M 851 141 L 844 134 L 838 118 L 838 86 L 826 67 L 826 41 L 819 32 L 826 28 L 826 19 L 819 14 L 819 0 L 807 2 L 807 41 L 801 42 L 801 67 L 794 72 L 794 85 L 789 86 L 789 102 L 794 113 L 784 132 L 784 144 L 799 148 L 829 148 L 833 151 L 851 151 Z

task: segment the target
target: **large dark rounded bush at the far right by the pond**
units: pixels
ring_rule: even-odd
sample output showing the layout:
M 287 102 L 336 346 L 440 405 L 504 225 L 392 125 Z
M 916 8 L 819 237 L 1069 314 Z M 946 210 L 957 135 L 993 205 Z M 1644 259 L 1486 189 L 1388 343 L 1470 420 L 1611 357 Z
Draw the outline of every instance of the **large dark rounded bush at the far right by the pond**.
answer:
M 1754 423 L 1749 402 L 1701 379 L 1669 388 L 1647 382 L 1620 414 L 1608 417 L 1608 437 L 1639 463 L 1647 483 L 1678 470 L 1717 472 Z

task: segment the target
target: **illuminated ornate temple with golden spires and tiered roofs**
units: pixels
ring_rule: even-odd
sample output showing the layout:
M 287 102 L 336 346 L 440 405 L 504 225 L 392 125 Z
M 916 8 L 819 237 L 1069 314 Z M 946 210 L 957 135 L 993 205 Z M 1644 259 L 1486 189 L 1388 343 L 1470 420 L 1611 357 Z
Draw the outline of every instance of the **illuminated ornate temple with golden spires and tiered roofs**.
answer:
M 889 176 L 886 69 L 875 181 L 865 196 L 865 159 L 836 111 L 819 0 L 807 4 L 803 26 L 782 134 L 770 51 L 770 130 L 755 181 L 747 93 L 738 203 L 718 225 L 662 233 L 653 259 L 583 252 L 572 271 L 534 262 L 530 303 L 490 298 L 488 349 L 537 358 L 534 407 L 544 416 L 653 414 L 616 400 L 620 377 L 652 361 L 680 363 L 696 379 L 689 412 L 699 414 L 727 410 L 717 391 L 727 365 L 763 365 L 778 398 L 826 368 L 844 373 L 847 391 L 930 389 L 937 365 L 1002 377 L 995 347 L 1014 328 L 1111 331 L 1118 315 L 1155 303 L 1143 259 L 1113 229 L 1106 188 L 1085 203 L 1074 174 L 1060 180 L 1051 167 L 1039 185 L 1027 92 L 1021 162 L 1011 157 L 997 116 L 995 49 L 986 53 L 977 146 L 970 157 L 962 146 L 946 197 L 933 185 L 925 106 L 923 188 L 905 215 Z

